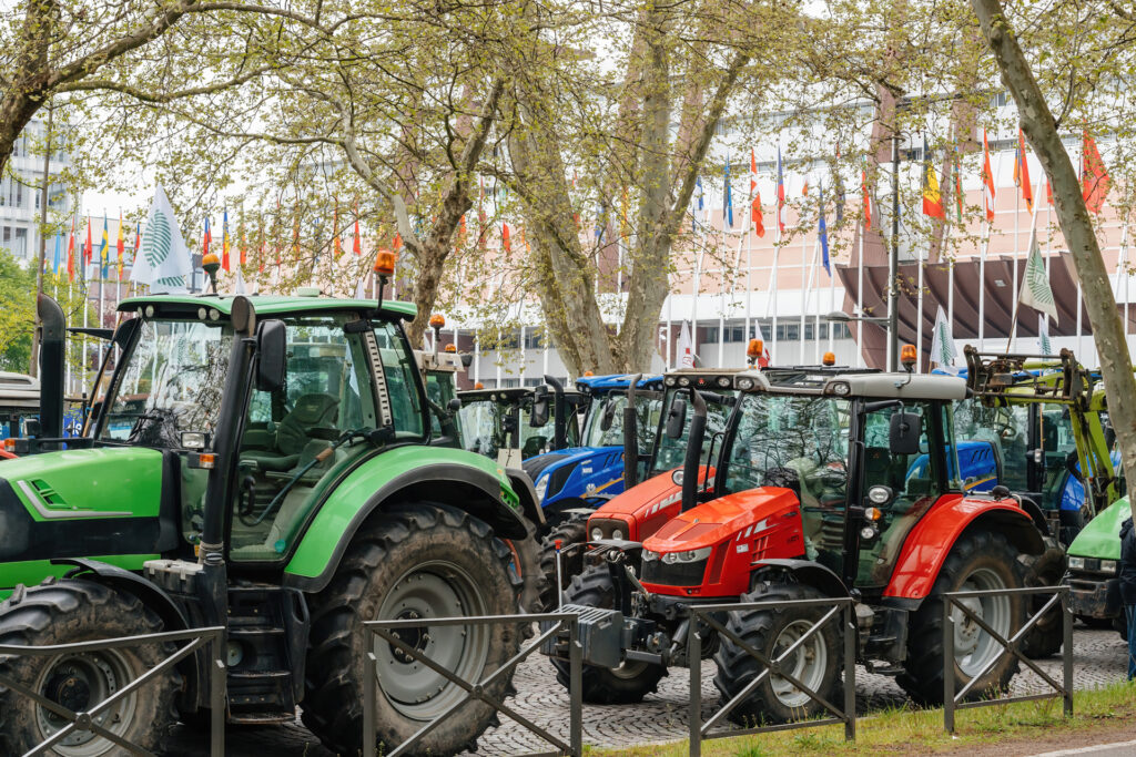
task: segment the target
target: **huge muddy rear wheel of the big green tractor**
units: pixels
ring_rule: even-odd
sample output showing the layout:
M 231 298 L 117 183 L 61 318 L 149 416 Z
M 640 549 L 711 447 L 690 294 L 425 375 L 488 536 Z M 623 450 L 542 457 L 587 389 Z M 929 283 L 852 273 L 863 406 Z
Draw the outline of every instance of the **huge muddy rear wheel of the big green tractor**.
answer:
M 365 634 L 369 620 L 510 615 L 518 584 L 509 569 L 512 553 L 485 522 L 434 503 L 400 504 L 382 511 L 356 533 L 326 589 L 309 597 L 309 639 L 303 723 L 339 754 L 362 747 L 364 676 L 374 675 L 368 651 L 378 661 L 376 717 L 385 752 L 406 741 L 456 700 L 457 685 Z M 478 682 L 519 648 L 516 624 L 431 626 L 403 631 L 404 641 L 432 661 Z M 502 675 L 486 693 L 502 698 L 511 684 Z M 482 701 L 466 701 L 415 748 L 450 755 L 476 749 L 493 721 Z

